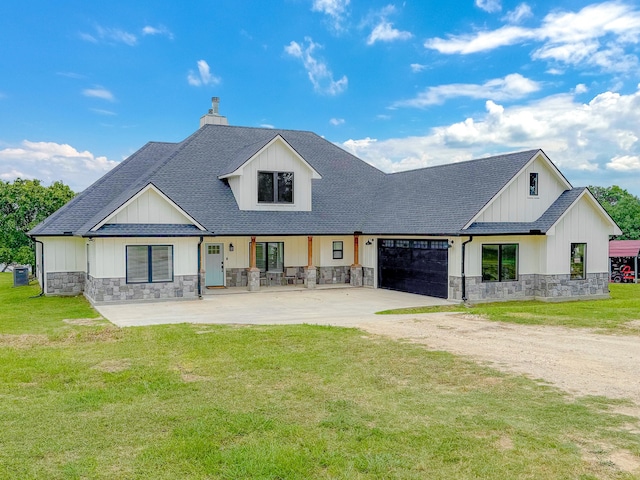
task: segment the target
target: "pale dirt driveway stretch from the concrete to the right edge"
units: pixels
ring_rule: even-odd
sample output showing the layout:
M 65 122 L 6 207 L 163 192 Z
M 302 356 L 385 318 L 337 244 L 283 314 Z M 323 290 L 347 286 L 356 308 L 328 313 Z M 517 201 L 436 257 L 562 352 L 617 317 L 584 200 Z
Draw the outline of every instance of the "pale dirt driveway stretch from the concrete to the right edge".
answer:
M 425 345 L 549 382 L 573 395 L 640 405 L 640 337 L 589 329 L 490 322 L 454 312 L 389 315 L 358 325 L 368 333 Z M 640 417 L 640 410 L 633 411 Z

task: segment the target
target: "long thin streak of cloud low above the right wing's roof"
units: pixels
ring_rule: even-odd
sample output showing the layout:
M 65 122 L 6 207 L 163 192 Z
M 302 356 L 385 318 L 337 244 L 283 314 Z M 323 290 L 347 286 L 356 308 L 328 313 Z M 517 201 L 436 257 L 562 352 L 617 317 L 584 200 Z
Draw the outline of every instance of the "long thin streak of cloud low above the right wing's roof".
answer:
M 540 90 L 540 84 L 523 77 L 519 73 L 495 78 L 482 85 L 472 83 L 454 83 L 429 87 L 410 100 L 395 102 L 393 107 L 424 108 L 441 105 L 450 98 L 469 97 L 476 99 L 510 100 L 522 98 Z

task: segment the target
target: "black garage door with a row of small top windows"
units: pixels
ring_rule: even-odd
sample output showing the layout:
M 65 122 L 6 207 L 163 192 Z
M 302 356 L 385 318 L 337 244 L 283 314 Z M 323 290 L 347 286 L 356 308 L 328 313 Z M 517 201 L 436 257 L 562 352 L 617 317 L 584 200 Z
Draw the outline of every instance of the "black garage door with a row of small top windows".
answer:
M 446 240 L 381 239 L 378 287 L 430 297 L 449 296 Z

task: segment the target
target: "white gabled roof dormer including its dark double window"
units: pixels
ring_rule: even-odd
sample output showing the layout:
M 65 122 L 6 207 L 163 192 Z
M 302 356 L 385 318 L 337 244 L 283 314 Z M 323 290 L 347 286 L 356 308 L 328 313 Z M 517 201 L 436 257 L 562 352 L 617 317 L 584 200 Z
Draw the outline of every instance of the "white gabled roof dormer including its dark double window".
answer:
M 226 179 L 240 210 L 311 211 L 313 179 L 322 178 L 281 135 L 237 159 Z

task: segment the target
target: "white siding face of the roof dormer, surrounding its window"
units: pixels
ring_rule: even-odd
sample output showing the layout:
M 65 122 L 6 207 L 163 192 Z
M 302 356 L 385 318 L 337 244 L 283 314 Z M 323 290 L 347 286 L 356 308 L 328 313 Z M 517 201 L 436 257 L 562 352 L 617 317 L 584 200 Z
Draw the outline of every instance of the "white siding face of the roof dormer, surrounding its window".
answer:
M 258 172 L 293 172 L 293 203 L 259 203 Z M 312 178 L 314 171 L 309 165 L 284 141 L 276 139 L 230 175 L 228 181 L 240 210 L 309 212 Z

